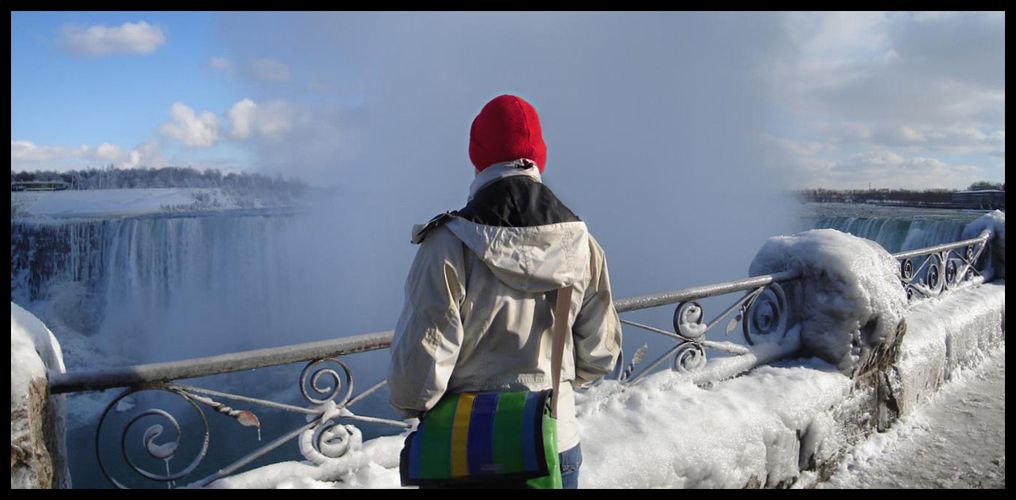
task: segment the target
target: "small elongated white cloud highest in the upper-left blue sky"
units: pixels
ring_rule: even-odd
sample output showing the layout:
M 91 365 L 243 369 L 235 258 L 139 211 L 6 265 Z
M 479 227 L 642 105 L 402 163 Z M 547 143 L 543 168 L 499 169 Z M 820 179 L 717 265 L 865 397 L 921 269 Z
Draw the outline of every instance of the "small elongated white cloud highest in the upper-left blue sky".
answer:
M 166 43 L 166 35 L 161 27 L 142 20 L 120 26 L 65 25 L 60 41 L 67 51 L 84 56 L 151 54 Z

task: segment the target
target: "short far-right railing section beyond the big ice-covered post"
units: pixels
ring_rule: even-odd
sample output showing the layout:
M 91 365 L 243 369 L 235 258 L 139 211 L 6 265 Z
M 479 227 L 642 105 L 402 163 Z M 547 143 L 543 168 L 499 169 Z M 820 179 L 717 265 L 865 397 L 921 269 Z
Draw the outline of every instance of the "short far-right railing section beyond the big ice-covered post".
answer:
M 894 253 L 906 298 L 914 301 L 936 297 L 947 290 L 982 282 L 976 264 L 991 237 L 992 232 L 985 230 L 969 240 Z

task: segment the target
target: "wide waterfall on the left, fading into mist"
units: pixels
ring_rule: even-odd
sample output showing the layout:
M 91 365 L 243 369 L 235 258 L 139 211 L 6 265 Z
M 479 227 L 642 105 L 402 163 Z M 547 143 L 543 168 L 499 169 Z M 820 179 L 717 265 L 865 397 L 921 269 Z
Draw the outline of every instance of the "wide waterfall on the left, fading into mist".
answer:
M 271 213 L 12 221 L 11 300 L 138 362 L 285 343 L 334 324 L 320 291 L 341 270 L 314 231 Z

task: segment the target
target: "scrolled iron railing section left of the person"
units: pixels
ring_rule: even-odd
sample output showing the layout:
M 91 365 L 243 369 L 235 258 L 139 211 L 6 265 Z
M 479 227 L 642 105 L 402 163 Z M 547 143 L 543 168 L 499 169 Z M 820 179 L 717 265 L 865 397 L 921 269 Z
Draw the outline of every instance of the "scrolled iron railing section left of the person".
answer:
M 352 447 L 359 445 L 360 431 L 344 422 L 367 422 L 389 425 L 398 429 L 407 429 L 409 424 L 402 421 L 366 417 L 354 414 L 350 408 L 376 392 L 384 385 L 384 381 L 376 383 L 357 396 L 353 396 L 354 377 L 348 366 L 338 359 L 339 356 L 388 349 L 391 346 L 392 331 L 371 333 L 354 337 L 338 338 L 316 342 L 285 346 L 281 348 L 263 349 L 234 353 L 223 356 L 211 356 L 192 360 L 170 363 L 137 365 L 110 370 L 93 370 L 71 372 L 66 374 L 52 373 L 50 375 L 50 392 L 52 394 L 68 392 L 84 392 L 104 390 L 116 387 L 127 387 L 122 393 L 107 404 L 96 428 L 96 456 L 106 478 L 118 488 L 127 486 L 117 480 L 110 464 L 106 463 L 100 452 L 104 424 L 115 413 L 129 412 L 133 409 L 132 398 L 139 392 L 157 391 L 181 398 L 185 408 L 193 409 L 200 419 L 203 438 L 195 457 L 178 472 L 171 472 L 170 462 L 181 448 L 183 429 L 173 414 L 164 409 L 143 409 L 131 418 L 120 432 L 121 455 L 126 465 L 141 478 L 149 481 L 175 486 L 193 473 L 208 452 L 210 428 L 203 407 L 216 413 L 232 417 L 244 427 L 256 427 L 260 436 L 261 423 L 257 415 L 248 410 L 233 409 L 218 399 L 238 401 L 247 405 L 260 405 L 274 410 L 304 415 L 307 424 L 279 436 L 257 450 L 244 455 L 215 473 L 201 478 L 188 486 L 206 486 L 215 480 L 230 476 L 248 463 L 260 458 L 285 443 L 300 438 L 300 448 L 304 456 L 311 460 L 336 458 L 343 455 Z M 224 391 L 210 390 L 191 385 L 175 383 L 176 380 L 236 373 L 246 370 L 308 362 L 300 375 L 300 390 L 308 407 L 298 407 L 270 401 L 258 397 L 233 394 Z M 344 389 L 344 390 L 343 390 Z M 144 430 L 142 438 L 143 451 L 151 460 L 165 462 L 166 474 L 144 468 L 131 458 L 128 451 L 128 434 L 141 419 L 158 418 L 173 427 L 175 436 L 172 440 L 157 443 L 164 432 L 163 425 L 149 425 Z M 341 419 L 341 420 L 340 420 Z M 122 464 L 120 464 L 122 468 Z

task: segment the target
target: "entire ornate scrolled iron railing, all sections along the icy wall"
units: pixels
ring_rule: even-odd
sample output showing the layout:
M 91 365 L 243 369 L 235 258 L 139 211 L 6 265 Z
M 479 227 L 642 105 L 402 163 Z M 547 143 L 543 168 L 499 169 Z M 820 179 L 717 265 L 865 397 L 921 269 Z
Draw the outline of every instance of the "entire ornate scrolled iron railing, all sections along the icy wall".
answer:
M 894 254 L 893 256 L 900 260 L 902 286 L 909 296 L 913 296 L 914 292 L 929 296 L 974 280 L 975 276 L 980 276 L 976 263 L 989 238 L 990 234 L 986 232 L 971 240 Z M 958 253 L 959 249 L 964 249 L 963 253 Z M 914 259 L 920 257 L 925 258 L 914 267 Z M 940 274 L 945 275 L 942 284 L 939 284 Z M 783 342 L 782 339 L 796 322 L 791 304 L 797 295 L 795 289 L 799 285 L 799 272 L 785 271 L 616 301 L 615 308 L 619 313 L 677 304 L 673 331 L 622 319 L 624 324 L 662 335 L 677 342 L 638 373 L 634 373 L 635 367 L 646 354 L 647 346 L 642 346 L 636 351 L 627 367 L 623 360 L 618 363 L 616 378 L 623 385 L 637 383 L 662 363 L 672 360 L 673 369 L 688 375 L 692 381 L 709 382 L 736 376 L 759 364 L 793 354 L 798 351 L 799 345 L 792 341 Z M 699 301 L 739 293 L 744 294 L 712 320 L 705 320 L 705 311 Z M 724 334 L 740 329 L 745 343 L 707 339 L 706 334 L 720 324 L 724 325 Z M 120 430 L 120 456 L 127 467 L 139 478 L 171 487 L 194 473 L 207 454 L 210 427 L 204 409 L 229 417 L 241 426 L 255 427 L 259 433 L 261 423 L 253 411 L 234 409 L 221 400 L 234 401 L 234 404 L 242 404 L 245 408 L 262 407 L 280 410 L 307 418 L 306 424 L 274 438 L 229 465 L 186 484 L 186 486 L 201 487 L 235 474 L 257 458 L 298 438 L 303 455 L 313 462 L 323 463 L 328 459 L 341 457 L 360 446 L 362 434 L 353 425 L 355 423 L 381 424 L 399 430 L 410 429 L 411 424 L 407 422 L 355 414 L 352 408 L 383 387 L 385 381 L 377 382 L 354 396 L 353 373 L 348 366 L 338 359 L 340 356 L 355 353 L 388 349 L 392 336 L 392 331 L 384 331 L 179 362 L 66 374 L 52 373 L 50 391 L 53 394 L 63 394 L 125 388 L 107 404 L 94 435 L 99 466 L 110 483 L 118 488 L 126 488 L 127 485 L 115 477 L 116 472 L 106 463 L 100 452 L 101 436 L 113 411 L 131 411 L 130 404 L 124 403 L 130 400 L 129 397 L 138 393 L 155 391 L 180 398 L 185 403 L 184 408 L 192 409 L 197 414 L 201 424 L 200 434 L 203 434 L 203 438 L 197 443 L 194 458 L 182 468 L 173 472 L 171 461 L 181 450 L 183 432 L 180 421 L 170 411 L 161 408 L 138 409 L 138 414 L 133 418 L 122 419 L 127 422 Z M 763 339 L 766 340 L 760 341 Z M 775 341 L 772 341 L 773 339 Z M 707 369 L 706 350 L 733 356 L 714 360 L 710 363 L 711 368 Z M 299 380 L 301 393 L 308 403 L 306 407 L 176 382 L 294 363 L 306 363 Z M 128 451 L 130 444 L 128 435 L 131 429 L 139 425 L 142 419 L 149 418 L 162 419 L 164 424 L 173 428 L 174 435 L 165 441 L 166 428 L 162 424 L 149 425 L 144 429 L 140 440 L 142 450 L 147 453 L 149 459 L 165 462 L 165 474 L 144 468 Z

